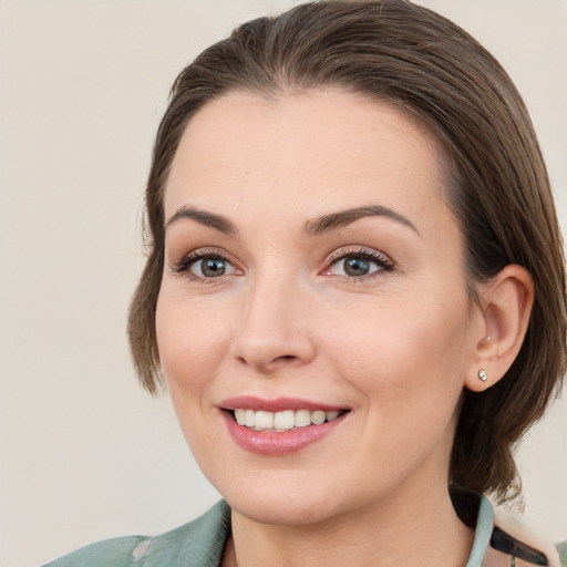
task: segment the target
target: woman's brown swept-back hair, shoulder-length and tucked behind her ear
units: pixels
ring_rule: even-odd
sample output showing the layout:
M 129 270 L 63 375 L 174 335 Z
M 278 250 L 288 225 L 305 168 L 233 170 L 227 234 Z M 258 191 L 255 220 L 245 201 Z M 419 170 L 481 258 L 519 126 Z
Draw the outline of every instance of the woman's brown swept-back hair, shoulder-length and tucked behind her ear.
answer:
M 515 444 L 565 371 L 561 237 L 546 167 L 524 103 L 498 62 L 445 18 L 406 0 L 328 1 L 260 18 L 204 51 L 175 81 L 146 192 L 148 257 L 128 322 L 134 363 L 159 383 L 155 310 L 164 261 L 163 192 L 179 138 L 203 105 L 240 90 L 266 96 L 341 87 L 419 116 L 446 148 L 447 199 L 465 240 L 470 293 L 506 265 L 534 278 L 535 303 L 507 374 L 466 390 L 450 478 L 505 499 L 519 493 Z

